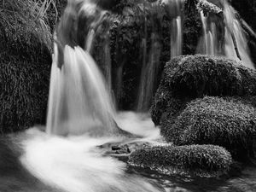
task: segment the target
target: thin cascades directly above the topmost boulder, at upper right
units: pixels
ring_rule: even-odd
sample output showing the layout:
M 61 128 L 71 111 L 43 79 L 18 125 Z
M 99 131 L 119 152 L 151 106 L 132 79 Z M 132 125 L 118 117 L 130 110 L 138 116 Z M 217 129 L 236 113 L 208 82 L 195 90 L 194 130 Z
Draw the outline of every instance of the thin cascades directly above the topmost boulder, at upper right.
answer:
M 201 10 L 203 37 L 198 46 L 198 53 L 224 55 L 230 59 L 241 61 L 246 67 L 254 68 L 247 47 L 246 34 L 243 32 L 239 20 L 236 19 L 235 9 L 227 1 L 223 1 L 221 5 L 223 17 L 214 14 L 206 16 Z M 213 4 L 213 6 L 215 5 Z

